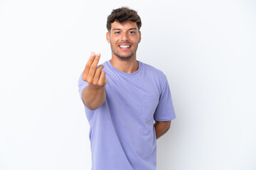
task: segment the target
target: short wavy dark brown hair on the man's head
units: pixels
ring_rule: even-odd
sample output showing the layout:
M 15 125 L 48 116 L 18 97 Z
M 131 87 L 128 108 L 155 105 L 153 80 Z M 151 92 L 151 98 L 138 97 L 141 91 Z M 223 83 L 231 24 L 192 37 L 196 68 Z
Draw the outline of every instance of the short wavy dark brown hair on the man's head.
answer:
M 137 23 L 138 29 L 142 27 L 142 21 L 137 11 L 134 11 L 127 7 L 113 9 L 110 16 L 107 17 L 107 30 L 111 30 L 111 24 L 117 21 L 119 23 L 125 23 L 127 21 L 133 21 Z

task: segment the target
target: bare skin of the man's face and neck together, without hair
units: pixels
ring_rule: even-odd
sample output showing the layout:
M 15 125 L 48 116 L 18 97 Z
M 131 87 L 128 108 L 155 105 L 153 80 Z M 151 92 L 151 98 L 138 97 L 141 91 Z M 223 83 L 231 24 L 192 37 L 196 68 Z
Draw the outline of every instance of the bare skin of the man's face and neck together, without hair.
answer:
M 112 66 L 126 73 L 137 72 L 139 62 L 136 60 L 136 51 L 142 40 L 137 24 L 114 22 L 106 36 L 112 50 L 112 59 L 110 60 Z M 128 50 L 122 50 L 119 45 L 131 45 L 131 47 Z

